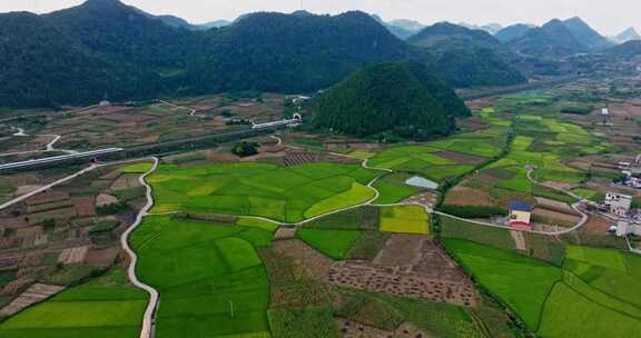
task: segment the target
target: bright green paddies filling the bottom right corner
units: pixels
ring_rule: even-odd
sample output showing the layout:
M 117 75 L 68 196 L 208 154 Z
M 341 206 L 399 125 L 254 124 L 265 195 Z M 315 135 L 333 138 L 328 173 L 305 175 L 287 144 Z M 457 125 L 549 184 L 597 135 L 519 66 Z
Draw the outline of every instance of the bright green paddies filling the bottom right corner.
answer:
M 630 291 L 641 287 L 641 257 L 566 246 L 558 267 L 474 241 L 445 238 L 444 243 L 540 337 L 627 337 L 641 328 L 641 299 Z

